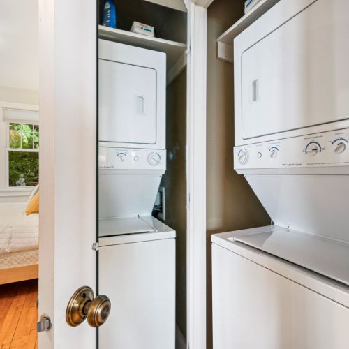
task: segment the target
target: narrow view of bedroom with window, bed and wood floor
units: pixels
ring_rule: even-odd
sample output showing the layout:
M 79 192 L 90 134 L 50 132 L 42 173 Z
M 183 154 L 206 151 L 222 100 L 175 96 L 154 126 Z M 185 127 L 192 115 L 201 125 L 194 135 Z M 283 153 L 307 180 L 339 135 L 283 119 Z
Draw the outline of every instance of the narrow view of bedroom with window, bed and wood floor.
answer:
M 0 346 L 36 345 L 38 2 L 1 1 Z M 35 199 L 32 200 L 35 196 Z M 30 204 L 29 204 L 30 202 Z M 34 207 L 33 206 L 36 206 Z

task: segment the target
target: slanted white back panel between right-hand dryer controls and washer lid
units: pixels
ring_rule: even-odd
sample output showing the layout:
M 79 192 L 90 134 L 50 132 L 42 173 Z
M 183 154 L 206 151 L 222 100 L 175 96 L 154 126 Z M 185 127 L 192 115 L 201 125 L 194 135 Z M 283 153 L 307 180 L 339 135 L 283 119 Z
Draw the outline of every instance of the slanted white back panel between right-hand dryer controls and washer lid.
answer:
M 252 174 L 246 179 L 276 225 L 349 242 L 348 175 Z

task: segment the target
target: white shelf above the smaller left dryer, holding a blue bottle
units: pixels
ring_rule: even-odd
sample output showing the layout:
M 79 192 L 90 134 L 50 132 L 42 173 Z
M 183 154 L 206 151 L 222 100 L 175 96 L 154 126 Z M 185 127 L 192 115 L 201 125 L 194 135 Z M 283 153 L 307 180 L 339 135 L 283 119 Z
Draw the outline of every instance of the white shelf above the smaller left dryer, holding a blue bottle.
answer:
M 165 52 L 167 54 L 168 70 L 174 66 L 182 54 L 186 51 L 186 44 L 175 41 L 154 38 L 142 34 L 132 33 L 121 29 L 98 26 L 98 37 L 105 40 L 124 43 L 127 45 L 147 48 L 149 50 Z

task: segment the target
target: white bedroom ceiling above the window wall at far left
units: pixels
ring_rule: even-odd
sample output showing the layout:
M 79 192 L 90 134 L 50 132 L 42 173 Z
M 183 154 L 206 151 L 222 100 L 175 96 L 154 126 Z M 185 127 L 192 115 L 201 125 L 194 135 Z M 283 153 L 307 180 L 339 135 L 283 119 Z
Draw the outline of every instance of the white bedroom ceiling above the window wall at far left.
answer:
M 0 86 L 38 90 L 38 0 L 0 0 Z

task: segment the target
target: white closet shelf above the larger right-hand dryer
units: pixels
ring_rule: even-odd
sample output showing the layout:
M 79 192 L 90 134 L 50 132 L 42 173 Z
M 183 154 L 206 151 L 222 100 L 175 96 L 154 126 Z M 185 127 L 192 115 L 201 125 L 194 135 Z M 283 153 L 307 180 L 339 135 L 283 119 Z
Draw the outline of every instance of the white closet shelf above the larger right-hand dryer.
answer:
M 260 16 L 272 8 L 280 0 L 262 0 L 255 5 L 244 17 L 240 18 L 235 24 L 227 29 L 219 38 L 218 43 L 218 59 L 234 63 L 234 38 L 242 31 L 249 27 L 253 22 L 258 20 Z

